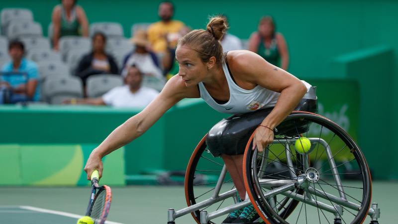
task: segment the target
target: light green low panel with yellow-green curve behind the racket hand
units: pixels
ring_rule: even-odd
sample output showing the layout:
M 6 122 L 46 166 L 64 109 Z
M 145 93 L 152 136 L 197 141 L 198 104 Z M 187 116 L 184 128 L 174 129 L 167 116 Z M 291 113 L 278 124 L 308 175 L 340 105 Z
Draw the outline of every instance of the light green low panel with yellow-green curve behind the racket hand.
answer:
M 0 144 L 0 186 L 84 186 L 94 144 Z M 124 149 L 103 158 L 102 184 L 124 185 Z

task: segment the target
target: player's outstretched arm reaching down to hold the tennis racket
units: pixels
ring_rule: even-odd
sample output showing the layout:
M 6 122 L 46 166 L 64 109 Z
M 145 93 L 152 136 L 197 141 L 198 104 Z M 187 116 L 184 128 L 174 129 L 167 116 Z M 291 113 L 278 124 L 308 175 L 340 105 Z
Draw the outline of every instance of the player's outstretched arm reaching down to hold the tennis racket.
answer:
M 196 88 L 196 87 L 195 87 Z M 158 97 L 142 112 L 130 117 L 114 129 L 105 140 L 95 148 L 87 160 L 85 171 L 90 180 L 91 173 L 98 170 L 102 175 L 103 156 L 131 142 L 148 130 L 167 110 L 183 98 L 196 97 L 192 89 L 187 88 L 178 75 L 170 79 Z M 195 89 L 194 89 L 195 90 Z

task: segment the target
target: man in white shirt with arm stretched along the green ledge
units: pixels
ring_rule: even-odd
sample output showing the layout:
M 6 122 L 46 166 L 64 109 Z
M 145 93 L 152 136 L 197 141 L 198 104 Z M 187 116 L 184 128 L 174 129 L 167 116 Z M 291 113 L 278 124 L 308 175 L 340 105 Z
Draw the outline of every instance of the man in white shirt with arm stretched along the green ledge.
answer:
M 135 66 L 128 68 L 126 85 L 115 87 L 99 98 L 71 99 L 66 104 L 108 105 L 116 108 L 145 108 L 159 94 L 156 90 L 141 86 L 143 74 Z

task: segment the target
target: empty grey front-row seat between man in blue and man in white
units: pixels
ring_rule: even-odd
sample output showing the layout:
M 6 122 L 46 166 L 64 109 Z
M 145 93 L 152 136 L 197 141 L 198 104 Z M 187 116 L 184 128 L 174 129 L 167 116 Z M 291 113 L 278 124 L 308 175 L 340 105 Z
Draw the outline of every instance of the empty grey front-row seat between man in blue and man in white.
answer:
M 64 100 L 83 97 L 83 83 L 77 77 L 52 77 L 43 84 L 43 94 L 50 104 L 62 104 Z

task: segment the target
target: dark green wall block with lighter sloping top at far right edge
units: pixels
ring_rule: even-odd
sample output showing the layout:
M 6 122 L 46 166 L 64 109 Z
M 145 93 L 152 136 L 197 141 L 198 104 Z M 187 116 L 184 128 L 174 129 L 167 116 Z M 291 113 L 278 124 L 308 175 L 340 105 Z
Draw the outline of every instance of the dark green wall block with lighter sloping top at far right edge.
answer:
M 367 160 L 374 175 L 383 179 L 398 179 L 396 172 L 387 174 L 383 171 L 398 170 L 397 154 L 390 144 L 391 136 L 397 134 L 393 60 L 391 47 L 382 45 L 341 55 L 333 61 L 334 71 L 358 81 L 361 96 L 358 140 L 362 150 L 370 155 Z

